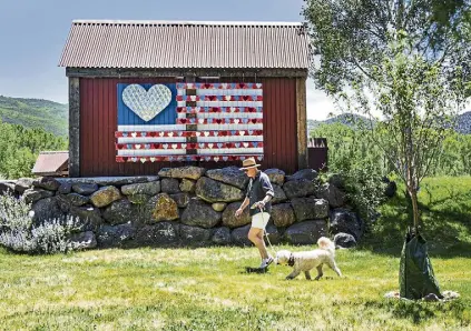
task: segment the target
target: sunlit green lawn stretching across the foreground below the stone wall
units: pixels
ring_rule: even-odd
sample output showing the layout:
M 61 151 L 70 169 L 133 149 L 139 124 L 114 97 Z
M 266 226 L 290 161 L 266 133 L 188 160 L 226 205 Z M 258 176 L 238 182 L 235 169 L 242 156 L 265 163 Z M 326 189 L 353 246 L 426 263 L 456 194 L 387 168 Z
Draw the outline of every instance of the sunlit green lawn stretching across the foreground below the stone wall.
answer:
M 461 249 L 471 242 L 471 200 L 465 198 L 471 179 L 428 183 L 432 198 L 422 191 L 421 202 L 433 268 L 441 289 L 458 291 L 458 300 L 384 299 L 399 288 L 406 210 L 396 205 L 396 197 L 382 208 L 382 219 L 360 248 L 337 251 L 345 277 L 327 270 L 318 282 L 301 275 L 285 281 L 288 267 L 243 273 L 259 262 L 254 248 L 112 249 L 49 257 L 0 249 L 0 329 L 470 330 L 471 257 Z M 447 198 L 445 187 L 453 188 L 453 198 Z M 311 249 L 276 247 L 282 248 Z

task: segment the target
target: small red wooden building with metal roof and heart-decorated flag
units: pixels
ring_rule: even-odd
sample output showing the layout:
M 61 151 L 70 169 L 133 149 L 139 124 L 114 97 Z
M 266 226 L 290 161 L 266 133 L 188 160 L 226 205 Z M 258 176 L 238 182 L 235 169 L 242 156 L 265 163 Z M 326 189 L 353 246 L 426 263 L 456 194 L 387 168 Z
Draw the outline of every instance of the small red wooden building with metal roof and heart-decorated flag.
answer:
M 307 165 L 301 23 L 73 21 L 59 66 L 70 177 Z

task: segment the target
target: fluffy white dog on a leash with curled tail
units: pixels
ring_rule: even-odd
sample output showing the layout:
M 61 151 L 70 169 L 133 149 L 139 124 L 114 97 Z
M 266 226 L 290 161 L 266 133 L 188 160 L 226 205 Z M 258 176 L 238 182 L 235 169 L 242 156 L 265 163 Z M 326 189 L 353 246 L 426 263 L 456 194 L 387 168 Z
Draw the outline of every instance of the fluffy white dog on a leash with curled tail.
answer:
M 295 252 L 283 250 L 276 253 L 275 263 L 276 264 L 287 264 L 293 267 L 293 272 L 290 273 L 286 279 L 293 279 L 297 277 L 301 271 L 304 271 L 306 279 L 311 280 L 310 270 L 314 267 L 317 268 L 317 277 L 315 280 L 318 280 L 322 275 L 322 265 L 325 263 L 333 271 L 342 277 L 342 273 L 337 265 L 335 264 L 335 245 L 334 243 L 325 237 L 321 237 L 317 240 L 318 249 L 308 252 Z

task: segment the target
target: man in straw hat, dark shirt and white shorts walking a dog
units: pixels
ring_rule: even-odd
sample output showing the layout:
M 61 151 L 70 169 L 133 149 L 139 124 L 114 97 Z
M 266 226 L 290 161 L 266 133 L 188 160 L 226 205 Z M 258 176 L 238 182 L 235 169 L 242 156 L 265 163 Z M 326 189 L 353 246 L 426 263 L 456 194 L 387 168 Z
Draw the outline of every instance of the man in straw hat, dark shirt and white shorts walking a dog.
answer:
M 266 268 L 273 262 L 273 257 L 268 255 L 266 251 L 263 234 L 266 223 L 268 223 L 269 212 L 272 211 L 271 200 L 275 195 L 272 183 L 266 173 L 257 168 L 254 158 L 248 158 L 243 161 L 241 170 L 243 170 L 249 178 L 247 194 L 241 208 L 236 210 L 235 215 L 239 217 L 244 209 L 251 205 L 252 227 L 248 231 L 248 240 L 251 240 L 262 258 L 261 268 Z

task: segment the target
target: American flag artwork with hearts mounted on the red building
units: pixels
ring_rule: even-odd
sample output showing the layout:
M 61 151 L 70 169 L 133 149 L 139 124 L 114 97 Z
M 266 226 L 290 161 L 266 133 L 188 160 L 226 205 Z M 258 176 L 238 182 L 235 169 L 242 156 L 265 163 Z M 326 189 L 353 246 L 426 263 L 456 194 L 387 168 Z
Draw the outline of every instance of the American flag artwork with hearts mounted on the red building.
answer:
M 117 89 L 117 162 L 263 160 L 262 83 Z

